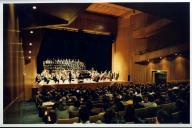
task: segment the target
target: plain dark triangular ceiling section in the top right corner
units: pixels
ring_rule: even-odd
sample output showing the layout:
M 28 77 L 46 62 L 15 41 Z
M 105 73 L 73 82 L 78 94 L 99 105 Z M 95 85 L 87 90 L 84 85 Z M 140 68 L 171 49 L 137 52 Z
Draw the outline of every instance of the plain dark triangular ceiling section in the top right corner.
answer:
M 181 24 L 189 24 L 189 2 L 117 3 L 151 15 L 168 18 Z

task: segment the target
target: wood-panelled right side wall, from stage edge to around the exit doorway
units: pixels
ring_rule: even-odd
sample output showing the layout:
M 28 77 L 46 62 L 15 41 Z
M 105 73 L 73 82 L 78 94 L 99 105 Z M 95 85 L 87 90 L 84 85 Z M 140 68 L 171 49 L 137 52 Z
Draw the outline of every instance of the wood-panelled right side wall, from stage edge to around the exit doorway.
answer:
M 119 19 L 116 41 L 112 47 L 112 71 L 119 72 L 119 80 L 123 81 L 127 81 L 130 75 L 130 81 L 133 82 L 153 82 L 154 70 L 166 70 L 168 81 L 188 80 L 189 58 L 184 56 L 177 56 L 171 60 L 163 58 L 158 63 L 150 62 L 145 65 L 135 63 L 138 51 L 148 49 L 150 43 L 158 43 L 149 42 L 148 38 L 133 36 L 133 32 L 145 28 L 147 22 L 147 14 L 144 13 Z

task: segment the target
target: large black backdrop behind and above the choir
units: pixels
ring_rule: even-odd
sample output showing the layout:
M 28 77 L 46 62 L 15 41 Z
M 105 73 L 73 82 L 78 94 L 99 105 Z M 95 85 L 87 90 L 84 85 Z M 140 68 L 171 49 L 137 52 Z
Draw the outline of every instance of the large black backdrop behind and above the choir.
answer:
M 46 29 L 37 56 L 37 72 L 43 70 L 47 58 L 79 59 L 87 69 L 111 70 L 112 40 L 112 36 Z

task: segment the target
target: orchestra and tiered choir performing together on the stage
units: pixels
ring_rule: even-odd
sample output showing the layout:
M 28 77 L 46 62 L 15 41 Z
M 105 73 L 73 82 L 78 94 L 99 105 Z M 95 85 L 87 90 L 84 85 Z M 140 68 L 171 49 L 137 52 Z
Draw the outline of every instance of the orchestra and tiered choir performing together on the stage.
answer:
M 119 77 L 119 73 L 111 71 L 86 70 L 85 63 L 79 60 L 47 59 L 43 66 L 44 70 L 36 76 L 38 85 L 103 82 L 118 80 Z

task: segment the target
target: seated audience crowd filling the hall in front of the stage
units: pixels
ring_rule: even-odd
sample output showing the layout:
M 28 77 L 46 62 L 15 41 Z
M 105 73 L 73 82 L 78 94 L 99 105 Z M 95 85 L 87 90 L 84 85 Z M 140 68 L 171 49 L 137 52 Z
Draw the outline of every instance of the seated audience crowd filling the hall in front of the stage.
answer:
M 176 112 L 179 113 L 177 123 L 189 123 L 189 87 L 189 83 L 117 83 L 95 90 L 82 87 L 41 90 L 38 91 L 35 102 L 40 116 L 43 116 L 43 103 L 49 101 L 55 103 L 53 109 L 56 108 L 57 119 L 70 117 L 70 112 L 79 112 L 80 123 L 90 123 L 89 117 L 98 114 L 92 113 L 92 109 L 98 107 L 103 109 L 98 114 L 101 123 L 145 123 L 145 119 L 135 116 L 135 109 L 176 103 Z M 121 112 L 125 114 L 122 116 Z M 173 123 L 171 113 L 163 109 L 158 111 L 156 117 L 156 123 Z

